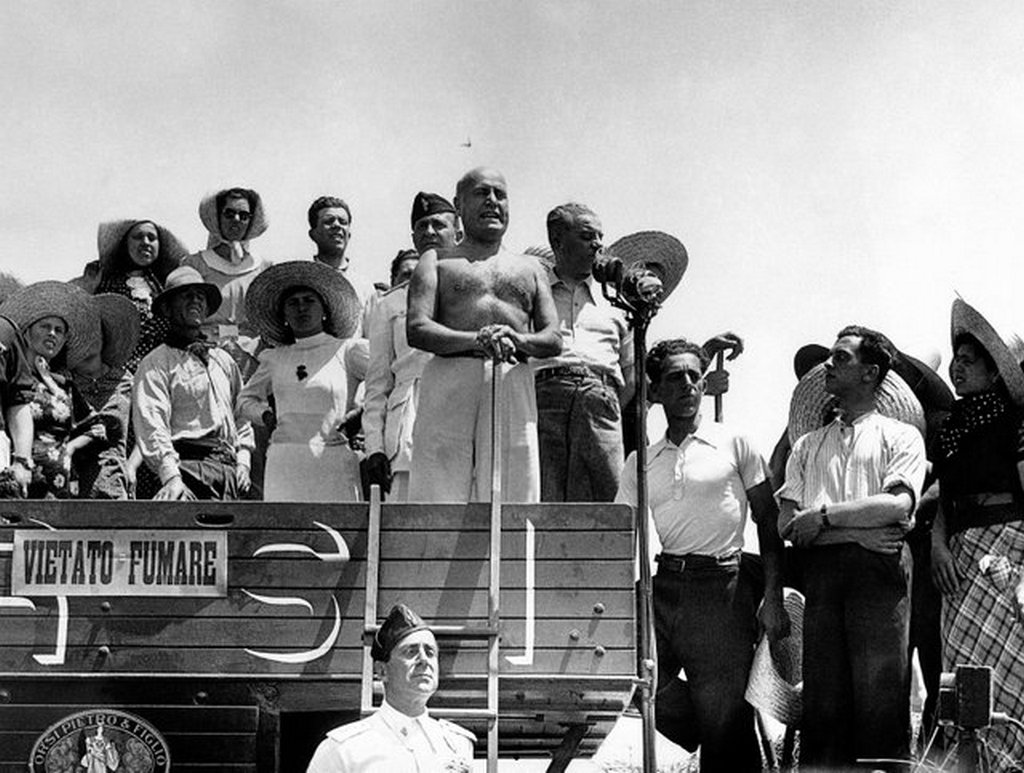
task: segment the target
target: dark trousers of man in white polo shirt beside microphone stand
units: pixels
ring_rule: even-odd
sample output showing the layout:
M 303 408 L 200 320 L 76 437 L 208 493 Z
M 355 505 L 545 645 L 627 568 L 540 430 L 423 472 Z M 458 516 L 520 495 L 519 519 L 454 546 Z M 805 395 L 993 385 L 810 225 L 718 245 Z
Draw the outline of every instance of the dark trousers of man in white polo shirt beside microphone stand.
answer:
M 737 561 L 663 566 L 653 586 L 658 732 L 691 750 L 699 744 L 703 773 L 760 771 L 754 710 L 743 698 L 757 638 L 753 584 Z

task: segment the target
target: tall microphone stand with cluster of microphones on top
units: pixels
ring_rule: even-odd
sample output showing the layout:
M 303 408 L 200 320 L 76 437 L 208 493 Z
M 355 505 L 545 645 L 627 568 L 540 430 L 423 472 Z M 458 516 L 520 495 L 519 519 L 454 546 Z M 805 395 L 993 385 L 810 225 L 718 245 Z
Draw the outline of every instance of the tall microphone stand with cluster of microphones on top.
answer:
M 654 609 L 650 576 L 650 546 L 647 520 L 647 329 L 660 308 L 660 300 L 647 300 L 635 293 L 624 293 L 622 274 L 609 287 L 601 284 L 605 298 L 626 312 L 633 329 L 633 372 L 636 379 L 636 458 L 637 458 L 637 509 L 636 535 L 637 560 L 640 563 L 640 594 L 637 625 L 640 629 L 640 720 L 643 725 L 643 770 L 657 773 L 654 755 L 654 693 L 657 689 L 657 669 L 653 653 Z M 611 292 L 611 291 L 614 292 Z M 660 294 L 658 294 L 660 295 Z

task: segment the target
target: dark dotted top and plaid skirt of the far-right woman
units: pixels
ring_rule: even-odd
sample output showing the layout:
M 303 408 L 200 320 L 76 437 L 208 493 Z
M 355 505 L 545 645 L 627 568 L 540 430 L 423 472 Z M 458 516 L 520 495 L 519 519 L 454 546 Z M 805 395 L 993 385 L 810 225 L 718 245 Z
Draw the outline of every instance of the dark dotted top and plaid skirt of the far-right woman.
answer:
M 936 467 L 959 587 L 942 608 L 943 665 L 992 669 L 993 711 L 1024 719 L 1024 511 L 1017 464 L 1024 423 L 999 395 L 966 397 L 939 436 Z M 1009 725 L 981 732 L 992 770 L 1024 763 L 1024 738 Z

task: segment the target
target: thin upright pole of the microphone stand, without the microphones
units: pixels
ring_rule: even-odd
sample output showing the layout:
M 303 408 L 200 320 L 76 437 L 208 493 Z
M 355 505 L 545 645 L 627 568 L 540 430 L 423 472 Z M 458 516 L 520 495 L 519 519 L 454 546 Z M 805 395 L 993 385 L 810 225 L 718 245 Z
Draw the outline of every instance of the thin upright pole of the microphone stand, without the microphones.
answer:
M 637 551 L 640 563 L 640 719 L 643 723 L 644 773 L 657 773 L 654 754 L 654 693 L 657 689 L 657 668 L 653 655 L 654 609 L 651 598 L 650 546 L 647 535 L 647 325 L 643 314 L 635 317 L 633 331 L 634 370 L 637 385 Z

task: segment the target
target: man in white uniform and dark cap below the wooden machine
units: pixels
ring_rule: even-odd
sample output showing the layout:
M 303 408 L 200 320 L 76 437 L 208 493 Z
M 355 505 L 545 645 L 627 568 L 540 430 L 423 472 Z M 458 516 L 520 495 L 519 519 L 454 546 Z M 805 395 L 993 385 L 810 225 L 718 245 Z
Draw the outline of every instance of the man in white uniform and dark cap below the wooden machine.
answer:
M 383 670 L 383 704 L 330 731 L 306 773 L 469 773 L 473 734 L 427 713 L 437 691 L 437 641 L 423 618 L 396 604 L 371 653 Z

